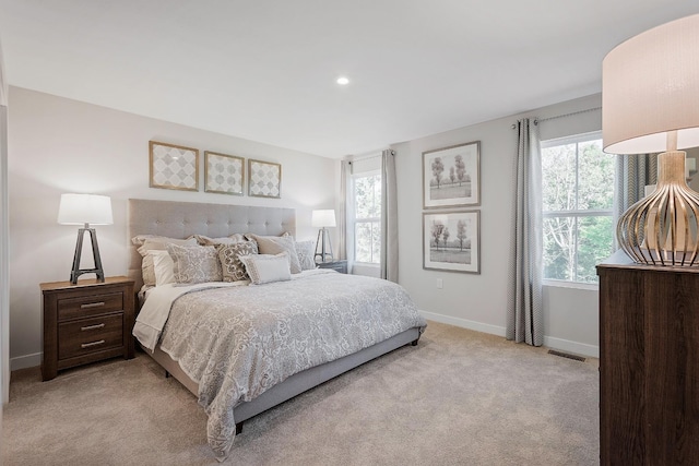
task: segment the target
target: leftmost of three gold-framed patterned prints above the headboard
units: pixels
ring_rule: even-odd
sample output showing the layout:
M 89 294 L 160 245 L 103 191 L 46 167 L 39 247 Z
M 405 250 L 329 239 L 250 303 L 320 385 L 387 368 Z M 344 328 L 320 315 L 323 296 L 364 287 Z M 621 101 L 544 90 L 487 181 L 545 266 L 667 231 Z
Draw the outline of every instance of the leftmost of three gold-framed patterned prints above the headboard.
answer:
M 150 187 L 199 191 L 199 150 L 150 141 Z

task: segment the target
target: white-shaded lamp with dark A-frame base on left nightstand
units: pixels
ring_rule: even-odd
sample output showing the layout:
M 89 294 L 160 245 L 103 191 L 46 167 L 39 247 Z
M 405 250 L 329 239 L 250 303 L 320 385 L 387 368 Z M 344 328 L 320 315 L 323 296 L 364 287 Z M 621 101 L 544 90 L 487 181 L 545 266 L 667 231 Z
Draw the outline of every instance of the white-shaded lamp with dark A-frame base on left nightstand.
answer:
M 70 273 L 70 283 L 75 285 L 78 277 L 83 274 L 97 274 L 99 282 L 105 280 L 105 272 L 102 268 L 99 247 L 97 246 L 97 232 L 90 225 L 111 225 L 111 200 L 106 195 L 94 194 L 61 194 L 61 203 L 58 207 L 58 223 L 61 225 L 83 225 L 78 229 L 78 242 L 73 255 L 73 268 Z M 80 268 L 80 259 L 83 251 L 83 237 L 90 231 L 92 239 L 92 255 L 94 268 Z

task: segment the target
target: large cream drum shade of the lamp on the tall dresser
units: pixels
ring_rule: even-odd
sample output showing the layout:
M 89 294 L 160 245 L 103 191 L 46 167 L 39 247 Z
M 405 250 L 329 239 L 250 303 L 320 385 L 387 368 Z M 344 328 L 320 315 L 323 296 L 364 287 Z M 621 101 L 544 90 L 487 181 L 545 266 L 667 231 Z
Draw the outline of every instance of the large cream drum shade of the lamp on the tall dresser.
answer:
M 699 14 L 649 29 L 602 62 L 602 138 L 611 154 L 699 146 Z

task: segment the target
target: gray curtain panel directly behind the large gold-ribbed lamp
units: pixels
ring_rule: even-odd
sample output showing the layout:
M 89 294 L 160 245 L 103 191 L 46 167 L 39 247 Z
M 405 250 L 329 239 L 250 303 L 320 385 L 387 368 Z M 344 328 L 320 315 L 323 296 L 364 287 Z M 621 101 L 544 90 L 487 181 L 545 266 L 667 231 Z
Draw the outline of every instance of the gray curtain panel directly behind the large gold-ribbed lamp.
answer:
M 614 225 L 631 205 L 644 198 L 647 184 L 657 183 L 657 155 L 632 154 L 616 156 L 614 178 Z M 614 235 L 614 249 L 619 249 Z

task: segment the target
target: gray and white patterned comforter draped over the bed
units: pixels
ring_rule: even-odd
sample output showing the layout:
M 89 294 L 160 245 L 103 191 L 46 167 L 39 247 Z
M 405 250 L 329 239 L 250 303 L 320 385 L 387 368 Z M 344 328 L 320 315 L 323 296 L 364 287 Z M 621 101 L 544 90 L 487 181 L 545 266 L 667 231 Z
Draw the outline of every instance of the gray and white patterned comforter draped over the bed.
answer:
M 401 286 L 329 270 L 260 286 L 196 288 L 170 294 L 161 349 L 199 383 L 209 444 L 220 461 L 233 445 L 237 404 L 305 369 L 427 325 Z M 164 323 L 162 315 L 142 315 L 150 299 L 139 320 Z

